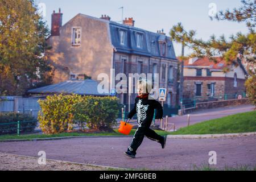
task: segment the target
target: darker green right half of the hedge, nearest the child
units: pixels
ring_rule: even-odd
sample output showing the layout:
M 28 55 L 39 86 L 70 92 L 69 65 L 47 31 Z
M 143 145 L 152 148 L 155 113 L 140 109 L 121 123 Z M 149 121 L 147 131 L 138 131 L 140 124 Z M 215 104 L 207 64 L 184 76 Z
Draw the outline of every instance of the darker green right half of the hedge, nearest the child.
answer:
M 75 106 L 75 120 L 89 129 L 109 131 L 118 117 L 117 97 L 86 96 Z

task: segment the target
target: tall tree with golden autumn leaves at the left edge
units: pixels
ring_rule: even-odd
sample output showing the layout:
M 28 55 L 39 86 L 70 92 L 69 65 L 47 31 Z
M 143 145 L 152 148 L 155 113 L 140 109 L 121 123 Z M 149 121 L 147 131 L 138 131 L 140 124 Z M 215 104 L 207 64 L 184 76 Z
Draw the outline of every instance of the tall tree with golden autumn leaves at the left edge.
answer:
M 22 95 L 32 80 L 49 80 L 48 27 L 34 0 L 0 0 L 0 94 Z

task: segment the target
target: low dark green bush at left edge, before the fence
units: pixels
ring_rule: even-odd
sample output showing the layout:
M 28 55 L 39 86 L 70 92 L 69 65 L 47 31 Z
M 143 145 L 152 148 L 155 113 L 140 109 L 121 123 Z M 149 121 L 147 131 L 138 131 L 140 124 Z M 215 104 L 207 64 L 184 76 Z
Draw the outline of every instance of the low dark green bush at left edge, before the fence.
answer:
M 0 135 L 17 133 L 18 121 L 20 121 L 20 133 L 29 133 L 34 131 L 37 123 L 29 114 L 0 113 Z M 14 124 L 5 125 L 4 123 Z

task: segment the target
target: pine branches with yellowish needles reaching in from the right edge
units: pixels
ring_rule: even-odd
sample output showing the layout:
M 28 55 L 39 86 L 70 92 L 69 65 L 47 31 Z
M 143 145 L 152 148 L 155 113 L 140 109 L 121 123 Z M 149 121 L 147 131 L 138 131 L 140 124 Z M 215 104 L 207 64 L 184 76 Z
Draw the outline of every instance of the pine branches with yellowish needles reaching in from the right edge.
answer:
M 209 40 L 196 39 L 196 31 L 185 31 L 181 23 L 172 27 L 170 36 L 176 42 L 182 42 L 184 46 L 192 49 L 189 57 L 209 57 L 210 60 L 216 61 L 216 56 L 222 56 L 228 65 L 237 64 L 241 59 L 250 64 L 249 80 L 246 82 L 246 89 L 249 93 L 250 100 L 255 100 L 255 74 L 256 74 L 256 34 L 254 31 L 256 23 L 256 1 L 241 1 L 242 6 L 233 11 L 220 11 L 214 16 L 217 20 L 230 20 L 233 22 L 246 22 L 249 28 L 247 34 L 238 32 L 231 35 L 227 40 L 224 35 L 216 38 L 212 35 Z M 211 18 L 213 20 L 213 18 Z M 226 69 L 226 72 L 229 70 Z M 254 84 L 254 85 L 253 85 Z M 254 89 L 254 90 L 253 90 Z M 253 95 L 254 94 L 254 95 Z M 255 105 L 255 101 L 253 102 Z

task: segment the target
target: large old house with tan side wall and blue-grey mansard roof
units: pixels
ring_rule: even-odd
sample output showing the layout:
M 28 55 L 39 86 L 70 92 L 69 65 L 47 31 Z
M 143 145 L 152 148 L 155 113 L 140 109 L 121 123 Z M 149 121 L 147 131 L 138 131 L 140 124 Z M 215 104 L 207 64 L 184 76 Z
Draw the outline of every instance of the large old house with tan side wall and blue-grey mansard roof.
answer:
M 47 51 L 55 67 L 53 82 L 87 75 L 97 80 L 100 73 L 110 77 L 110 69 L 118 73 L 159 73 L 159 87 L 167 88 L 164 104 L 175 106 L 177 64 L 173 44 L 163 31 L 156 33 L 134 27 L 133 18 L 123 23 L 77 14 L 62 26 L 63 14 L 53 12 Z M 118 82 L 118 81 L 117 81 Z M 116 82 L 116 84 L 117 84 Z M 122 104 L 133 103 L 136 94 L 117 94 Z

